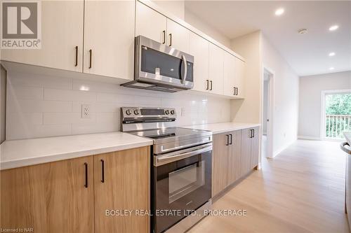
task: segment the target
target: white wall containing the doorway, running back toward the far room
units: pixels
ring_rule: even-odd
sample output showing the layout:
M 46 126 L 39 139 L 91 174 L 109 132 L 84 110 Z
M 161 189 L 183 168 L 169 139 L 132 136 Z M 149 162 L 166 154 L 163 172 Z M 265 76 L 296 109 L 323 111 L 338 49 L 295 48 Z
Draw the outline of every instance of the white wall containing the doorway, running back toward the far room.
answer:
M 282 55 L 262 37 L 263 66 L 274 72 L 273 155 L 281 152 L 297 138 L 298 81 Z

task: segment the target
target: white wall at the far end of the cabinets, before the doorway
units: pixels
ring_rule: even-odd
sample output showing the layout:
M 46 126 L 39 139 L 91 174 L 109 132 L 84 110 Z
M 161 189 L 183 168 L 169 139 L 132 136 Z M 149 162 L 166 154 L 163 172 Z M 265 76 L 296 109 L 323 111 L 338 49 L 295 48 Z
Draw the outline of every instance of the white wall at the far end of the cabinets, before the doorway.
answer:
M 232 100 L 233 122 L 260 123 L 262 57 L 260 31 L 232 40 L 232 50 L 245 57 L 245 99 Z

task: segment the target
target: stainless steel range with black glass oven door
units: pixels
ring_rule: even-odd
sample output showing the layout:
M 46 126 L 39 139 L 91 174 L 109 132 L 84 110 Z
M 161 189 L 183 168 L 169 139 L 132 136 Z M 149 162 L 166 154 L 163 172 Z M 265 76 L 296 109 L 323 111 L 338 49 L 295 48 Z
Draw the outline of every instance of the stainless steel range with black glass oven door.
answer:
M 123 132 L 153 139 L 152 232 L 185 232 L 211 209 L 212 132 L 175 127 L 174 108 L 121 108 Z

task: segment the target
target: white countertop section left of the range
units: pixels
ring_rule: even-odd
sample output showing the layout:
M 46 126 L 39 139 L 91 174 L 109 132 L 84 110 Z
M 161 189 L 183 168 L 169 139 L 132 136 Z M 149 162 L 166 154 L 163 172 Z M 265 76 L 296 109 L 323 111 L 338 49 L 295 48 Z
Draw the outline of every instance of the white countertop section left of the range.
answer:
M 0 170 L 150 146 L 151 139 L 123 132 L 4 141 Z

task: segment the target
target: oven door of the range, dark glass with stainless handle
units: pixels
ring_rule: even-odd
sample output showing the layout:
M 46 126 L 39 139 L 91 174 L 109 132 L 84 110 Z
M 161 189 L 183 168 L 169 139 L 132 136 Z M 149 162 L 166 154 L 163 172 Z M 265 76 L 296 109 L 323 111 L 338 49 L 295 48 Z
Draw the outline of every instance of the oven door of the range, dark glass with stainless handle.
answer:
M 212 143 L 154 156 L 154 232 L 164 232 L 211 199 Z

